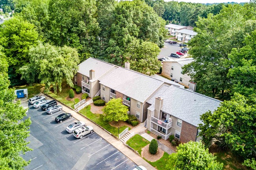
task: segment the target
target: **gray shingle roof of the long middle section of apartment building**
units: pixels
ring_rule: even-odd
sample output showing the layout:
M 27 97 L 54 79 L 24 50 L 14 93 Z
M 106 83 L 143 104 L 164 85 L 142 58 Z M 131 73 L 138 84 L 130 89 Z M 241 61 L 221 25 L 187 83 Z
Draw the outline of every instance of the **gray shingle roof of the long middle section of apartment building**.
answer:
M 145 102 L 164 83 L 122 67 L 109 71 L 99 81 L 100 84 L 140 102 Z

